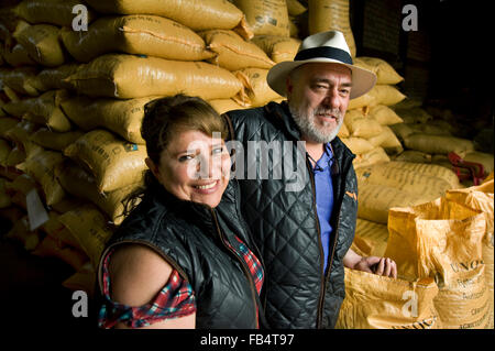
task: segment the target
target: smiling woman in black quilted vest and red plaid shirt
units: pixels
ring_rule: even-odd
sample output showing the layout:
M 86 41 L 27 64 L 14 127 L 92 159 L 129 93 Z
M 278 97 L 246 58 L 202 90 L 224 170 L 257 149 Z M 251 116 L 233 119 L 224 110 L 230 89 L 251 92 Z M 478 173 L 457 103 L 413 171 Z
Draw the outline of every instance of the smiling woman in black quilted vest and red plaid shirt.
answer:
M 99 326 L 258 328 L 264 272 L 229 182 L 223 120 L 178 95 L 145 106 L 141 134 L 146 189 L 102 254 Z

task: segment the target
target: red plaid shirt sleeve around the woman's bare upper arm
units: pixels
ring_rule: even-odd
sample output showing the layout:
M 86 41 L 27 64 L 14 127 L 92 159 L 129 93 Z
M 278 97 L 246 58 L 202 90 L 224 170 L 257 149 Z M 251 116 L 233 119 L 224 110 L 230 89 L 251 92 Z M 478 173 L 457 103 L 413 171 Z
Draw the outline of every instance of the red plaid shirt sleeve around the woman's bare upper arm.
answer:
M 175 270 L 153 301 L 140 307 L 113 301 L 110 297 L 110 275 L 108 272 L 112 252 L 109 252 L 105 259 L 102 267 L 105 303 L 100 308 L 98 318 L 100 328 L 112 328 L 118 322 L 123 322 L 131 328 L 141 328 L 165 319 L 185 317 L 196 311 L 193 287 Z

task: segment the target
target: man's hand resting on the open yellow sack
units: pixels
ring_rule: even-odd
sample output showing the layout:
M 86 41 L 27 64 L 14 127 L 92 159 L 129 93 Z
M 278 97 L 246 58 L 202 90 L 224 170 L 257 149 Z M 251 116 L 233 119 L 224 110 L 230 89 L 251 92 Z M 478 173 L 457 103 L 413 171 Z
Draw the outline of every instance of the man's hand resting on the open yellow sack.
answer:
M 344 266 L 351 270 L 374 273 L 393 278 L 397 277 L 397 264 L 391 259 L 378 256 L 363 257 L 350 249 L 343 259 L 343 263 Z

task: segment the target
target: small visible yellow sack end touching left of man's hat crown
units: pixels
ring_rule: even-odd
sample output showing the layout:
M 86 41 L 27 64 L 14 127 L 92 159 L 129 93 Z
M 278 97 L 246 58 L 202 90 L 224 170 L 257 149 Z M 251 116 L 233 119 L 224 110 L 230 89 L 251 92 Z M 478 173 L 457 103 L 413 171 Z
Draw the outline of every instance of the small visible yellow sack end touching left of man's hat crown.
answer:
M 301 43 L 298 39 L 278 35 L 255 35 L 251 42 L 263 50 L 274 63 L 293 61 Z

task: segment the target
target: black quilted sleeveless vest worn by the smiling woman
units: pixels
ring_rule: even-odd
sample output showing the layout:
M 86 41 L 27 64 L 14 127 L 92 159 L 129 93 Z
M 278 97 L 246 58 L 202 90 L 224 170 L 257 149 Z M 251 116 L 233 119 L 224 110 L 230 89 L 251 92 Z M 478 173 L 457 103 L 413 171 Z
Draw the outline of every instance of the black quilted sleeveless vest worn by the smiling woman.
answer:
M 260 257 L 240 216 L 238 186 L 237 180 L 229 183 L 215 210 L 162 189 L 148 191 L 107 245 L 106 252 L 118 244 L 141 243 L 160 253 L 193 286 L 198 329 L 256 328 L 260 298 L 252 275 L 223 243 L 238 245 L 235 234 Z M 101 288 L 101 262 L 99 274 Z M 260 317 L 263 320 L 262 311 Z

